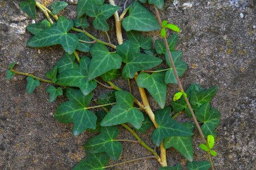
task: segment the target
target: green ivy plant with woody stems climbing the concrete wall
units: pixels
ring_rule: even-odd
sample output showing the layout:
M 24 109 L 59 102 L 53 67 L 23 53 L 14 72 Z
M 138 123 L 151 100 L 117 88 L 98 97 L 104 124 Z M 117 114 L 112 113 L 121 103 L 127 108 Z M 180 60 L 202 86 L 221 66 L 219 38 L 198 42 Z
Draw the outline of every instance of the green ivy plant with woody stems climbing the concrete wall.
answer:
M 145 7 L 144 3 L 149 5 Z M 61 15 L 66 6 L 66 2 L 55 1 L 51 11 L 35 0 L 20 3 L 21 10 L 31 19 L 36 18 L 36 8 L 46 17 L 27 26 L 27 31 L 31 32 L 27 46 L 61 45 L 64 55 L 51 70 L 46 70 L 47 79 L 15 70 L 14 62 L 7 70 L 7 80 L 15 75 L 27 76 L 28 95 L 36 91 L 40 82 L 51 84 L 46 90 L 50 102 L 58 96 L 68 97 L 68 101 L 56 109 L 54 118 L 64 124 L 73 124 L 74 135 L 95 133 L 85 142 L 87 157 L 74 169 L 106 169 L 145 159 L 155 159 L 160 163 L 160 169 L 182 169 L 184 163 L 168 167 L 166 150 L 171 147 L 186 158 L 187 169 L 214 169 L 211 155 L 217 155 L 212 148 L 217 137 L 216 128 L 220 124 L 220 112 L 211 108 L 210 102 L 218 88 L 206 89 L 200 84 L 191 84 L 186 91 L 183 89 L 180 77 L 188 67 L 182 61 L 182 52 L 176 50 L 181 29 L 161 20 L 159 10 L 163 8 L 164 1 L 134 1 L 122 12 L 114 0 L 109 0 L 109 3 L 78 0 L 77 16 L 73 20 Z M 152 7 L 156 16 L 149 11 Z M 87 30 L 93 27 L 108 36 L 111 16 L 115 18 L 119 44 L 102 41 Z M 87 18 L 93 18 L 93 22 L 87 22 Z M 147 33 L 141 34 L 148 31 L 154 31 L 159 38 L 153 42 L 152 37 L 144 36 Z M 127 39 L 124 40 L 123 36 Z M 127 82 L 129 91 L 117 87 L 113 83 L 117 79 Z M 132 80 L 139 88 L 140 98 L 133 93 Z M 174 96 L 166 95 L 168 84 L 178 86 L 178 91 L 173 91 Z M 93 91 L 98 86 L 109 91 L 94 96 Z M 150 108 L 154 101 L 149 102 L 147 95 L 153 97 L 160 109 Z M 173 100 L 166 103 L 167 98 Z M 186 113 L 186 122 L 181 121 L 182 117 L 177 120 L 183 113 Z M 127 129 L 134 140 L 120 139 L 121 128 Z M 150 128 L 154 130 L 152 144 L 149 145 L 139 135 L 148 133 Z M 199 147 L 207 152 L 208 160 L 198 162 L 194 158 L 193 148 L 198 147 L 192 143 L 195 129 L 203 141 Z M 151 155 L 115 164 L 124 154 L 123 142 L 137 143 Z M 114 164 L 108 164 L 110 159 Z

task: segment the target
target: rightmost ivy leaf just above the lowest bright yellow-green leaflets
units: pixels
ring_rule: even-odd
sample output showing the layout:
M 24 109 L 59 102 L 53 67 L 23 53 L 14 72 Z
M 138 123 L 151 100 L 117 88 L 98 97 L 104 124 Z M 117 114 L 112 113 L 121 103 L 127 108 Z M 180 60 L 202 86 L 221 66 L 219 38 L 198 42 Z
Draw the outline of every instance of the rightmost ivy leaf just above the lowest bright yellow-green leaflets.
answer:
M 200 109 L 195 111 L 195 116 L 200 122 L 204 123 L 201 126 L 201 129 L 205 137 L 210 134 L 214 137 L 217 136 L 215 128 L 220 124 L 220 112 L 217 109 L 211 109 L 210 104 L 205 103 Z

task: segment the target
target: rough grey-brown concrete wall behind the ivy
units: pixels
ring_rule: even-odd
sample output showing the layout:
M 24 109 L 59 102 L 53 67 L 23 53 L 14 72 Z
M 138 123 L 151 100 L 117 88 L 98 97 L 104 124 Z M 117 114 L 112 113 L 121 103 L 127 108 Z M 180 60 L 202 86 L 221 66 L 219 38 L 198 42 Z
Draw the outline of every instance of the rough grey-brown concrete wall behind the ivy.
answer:
M 19 10 L 19 2 L 0 0 L 0 169 L 71 169 L 86 154 L 83 143 L 93 133 L 72 135 L 72 126 L 60 124 L 53 118 L 57 106 L 65 99 L 54 103 L 47 101 L 45 89 L 49 84 L 41 83 L 32 95 L 26 94 L 26 79 L 15 76 L 6 81 L 7 65 L 18 62 L 17 70 L 44 77 L 62 56 L 60 46 L 34 49 L 26 47 L 31 34 L 26 26 L 31 23 Z M 47 1 L 44 1 L 47 3 Z M 75 2 L 63 12 L 70 19 L 75 16 Z M 129 1 L 131 2 L 131 1 Z M 119 1 L 123 5 L 124 1 Z M 178 50 L 188 70 L 182 76 L 184 87 L 200 83 L 203 87 L 219 86 L 212 106 L 221 112 L 221 124 L 216 139 L 218 156 L 213 158 L 216 169 L 255 168 L 255 8 L 253 1 L 196 0 L 166 1 L 161 11 L 163 19 L 181 27 Z M 39 21 L 43 15 L 37 15 Z M 91 22 L 91 21 L 90 21 Z M 110 20 L 110 28 L 114 25 Z M 89 32 L 93 32 L 89 30 Z M 103 33 L 93 32 L 106 40 Z M 156 32 L 150 35 L 157 39 Z M 115 38 L 114 33 L 111 37 Z M 116 43 L 116 41 L 114 41 Z M 121 79 L 117 85 L 128 89 Z M 135 85 L 135 82 L 132 82 Z M 133 94 L 139 96 L 136 87 Z M 176 88 L 169 87 L 173 95 Z M 94 97 L 106 92 L 98 88 Z M 170 98 L 170 97 L 169 97 Z M 170 100 L 169 100 L 170 101 Z M 153 109 L 156 103 L 150 99 Z M 182 120 L 185 116 L 180 116 Z M 148 134 L 140 134 L 146 143 L 153 146 Z M 120 138 L 133 139 L 120 128 Z M 195 134 L 195 145 L 199 145 L 199 134 Z M 121 161 L 150 155 L 150 152 L 134 143 L 125 143 Z M 171 149 L 167 151 L 170 165 L 186 160 Z M 195 160 L 205 160 L 205 154 L 195 147 Z M 113 169 L 157 169 L 155 160 L 130 163 Z M 184 167 L 184 169 L 186 169 Z

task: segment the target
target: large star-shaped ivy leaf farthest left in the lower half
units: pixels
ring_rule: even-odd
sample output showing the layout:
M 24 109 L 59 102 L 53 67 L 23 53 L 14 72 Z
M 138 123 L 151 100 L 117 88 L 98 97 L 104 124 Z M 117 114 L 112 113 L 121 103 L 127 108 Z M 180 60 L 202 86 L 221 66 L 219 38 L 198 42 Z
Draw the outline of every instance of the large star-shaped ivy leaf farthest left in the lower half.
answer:
M 66 96 L 69 101 L 62 103 L 54 114 L 54 118 L 65 124 L 74 124 L 73 134 L 81 134 L 86 129 L 96 129 L 97 117 L 88 109 L 92 95 L 83 95 L 80 90 L 66 88 Z

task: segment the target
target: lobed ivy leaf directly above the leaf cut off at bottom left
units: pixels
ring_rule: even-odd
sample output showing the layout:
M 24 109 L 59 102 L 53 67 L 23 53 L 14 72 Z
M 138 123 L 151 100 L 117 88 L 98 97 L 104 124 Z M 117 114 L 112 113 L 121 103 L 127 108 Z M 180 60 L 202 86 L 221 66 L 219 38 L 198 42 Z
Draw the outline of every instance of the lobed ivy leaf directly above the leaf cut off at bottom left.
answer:
M 92 154 L 106 152 L 112 160 L 118 160 L 123 146 L 121 143 L 115 141 L 117 135 L 117 126 L 102 127 L 99 135 L 96 135 L 85 143 L 86 152 Z

